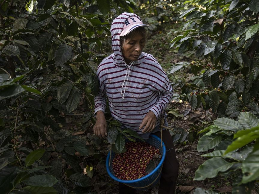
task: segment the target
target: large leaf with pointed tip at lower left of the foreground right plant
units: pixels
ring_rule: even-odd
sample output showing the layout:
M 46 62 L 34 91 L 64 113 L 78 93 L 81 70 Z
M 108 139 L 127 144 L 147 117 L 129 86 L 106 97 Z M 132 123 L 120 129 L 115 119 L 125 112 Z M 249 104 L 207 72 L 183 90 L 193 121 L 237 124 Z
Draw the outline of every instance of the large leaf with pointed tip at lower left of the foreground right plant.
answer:
M 210 158 L 205 161 L 195 172 L 194 181 L 214 178 L 219 172 L 225 172 L 234 165 L 234 162 L 228 163 L 221 157 Z

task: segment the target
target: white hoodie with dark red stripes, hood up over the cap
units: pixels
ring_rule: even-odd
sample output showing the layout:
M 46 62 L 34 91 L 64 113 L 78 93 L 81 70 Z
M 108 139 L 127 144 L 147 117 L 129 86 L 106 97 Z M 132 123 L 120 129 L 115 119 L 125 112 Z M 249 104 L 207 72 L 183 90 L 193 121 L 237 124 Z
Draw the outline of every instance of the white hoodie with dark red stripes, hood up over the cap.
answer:
M 94 115 L 97 111 L 105 111 L 107 97 L 112 117 L 121 122 L 123 128 L 133 129 L 147 139 L 150 133 L 143 134 L 138 130 L 142 120 L 151 110 L 157 118 L 153 132 L 158 131 L 162 115 L 173 96 L 173 89 L 162 67 L 151 54 L 142 52 L 138 60 L 126 64 L 121 52 L 120 34 L 125 20 L 132 16 L 138 17 L 125 12 L 112 22 L 110 31 L 114 52 L 97 68 L 100 90 L 94 98 Z

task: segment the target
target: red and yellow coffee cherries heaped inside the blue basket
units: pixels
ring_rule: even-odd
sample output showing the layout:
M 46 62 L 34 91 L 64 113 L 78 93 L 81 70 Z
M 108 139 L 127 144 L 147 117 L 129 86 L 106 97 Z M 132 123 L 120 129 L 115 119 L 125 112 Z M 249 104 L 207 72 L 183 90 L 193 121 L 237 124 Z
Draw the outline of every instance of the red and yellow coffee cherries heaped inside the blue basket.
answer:
M 112 160 L 113 172 L 122 180 L 135 180 L 147 175 L 147 164 L 153 157 L 161 155 L 159 149 L 146 142 L 127 142 L 125 146 L 127 151 L 115 154 Z

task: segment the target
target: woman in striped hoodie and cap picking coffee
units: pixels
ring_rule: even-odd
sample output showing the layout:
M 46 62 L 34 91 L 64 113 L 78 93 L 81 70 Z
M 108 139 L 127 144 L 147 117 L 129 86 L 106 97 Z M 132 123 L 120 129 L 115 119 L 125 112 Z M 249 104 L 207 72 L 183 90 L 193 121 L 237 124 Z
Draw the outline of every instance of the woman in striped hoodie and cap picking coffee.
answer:
M 157 60 L 142 52 L 147 33 L 141 19 L 134 13 L 122 13 L 111 26 L 113 54 L 106 57 L 97 68 L 100 91 L 95 97 L 96 124 L 94 134 L 107 136 L 106 97 L 112 117 L 121 122 L 123 128 L 130 128 L 143 138 L 150 133 L 161 137 L 160 121 L 173 96 L 171 84 Z M 166 156 L 159 185 L 160 193 L 174 193 L 178 176 L 178 162 L 174 144 L 168 130 L 162 132 L 166 145 Z M 135 191 L 119 184 L 120 193 Z

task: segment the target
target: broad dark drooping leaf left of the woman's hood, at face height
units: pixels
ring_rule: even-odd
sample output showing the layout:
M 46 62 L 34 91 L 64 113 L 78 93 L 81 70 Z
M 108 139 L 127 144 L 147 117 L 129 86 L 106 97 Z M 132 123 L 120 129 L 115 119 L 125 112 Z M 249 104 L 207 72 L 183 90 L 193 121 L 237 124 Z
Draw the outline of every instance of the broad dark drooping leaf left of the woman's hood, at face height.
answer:
M 58 50 L 55 52 L 55 63 L 56 66 L 63 65 L 67 62 L 72 55 L 72 48 L 67 44 L 61 44 Z

